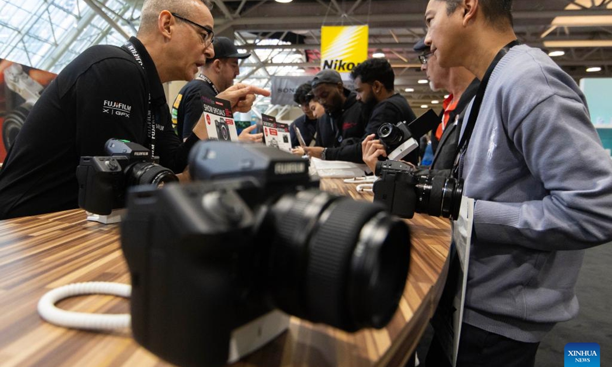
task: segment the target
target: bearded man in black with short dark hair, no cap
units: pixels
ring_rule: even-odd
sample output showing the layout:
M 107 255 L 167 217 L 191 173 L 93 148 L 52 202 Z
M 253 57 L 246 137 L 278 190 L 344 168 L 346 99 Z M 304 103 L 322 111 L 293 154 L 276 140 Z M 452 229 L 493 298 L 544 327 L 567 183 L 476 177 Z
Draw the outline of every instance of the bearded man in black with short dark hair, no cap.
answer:
M 371 111 L 362 141 L 375 139 L 378 128 L 386 122 L 395 125 L 398 122 L 411 122 L 416 118 L 406 98 L 395 93 L 395 74 L 386 59 L 368 59 L 362 62 L 353 69 L 351 78 L 355 83 L 357 100 L 362 103 L 364 111 Z M 323 152 L 324 154 L 321 154 Z M 359 143 L 327 149 L 313 147 L 308 149 L 308 154 L 311 157 L 323 156 L 326 160 L 364 163 L 362 144 Z M 419 150 L 416 149 L 406 156 L 406 161 L 419 163 Z

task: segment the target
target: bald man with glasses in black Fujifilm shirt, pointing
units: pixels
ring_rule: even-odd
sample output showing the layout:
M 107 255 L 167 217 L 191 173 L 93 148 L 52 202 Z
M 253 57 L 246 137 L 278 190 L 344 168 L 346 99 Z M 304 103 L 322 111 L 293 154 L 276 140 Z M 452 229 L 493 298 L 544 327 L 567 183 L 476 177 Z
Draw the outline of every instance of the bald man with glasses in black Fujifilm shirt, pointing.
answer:
M 181 144 L 171 127 L 162 83 L 192 80 L 214 56 L 208 0 L 146 0 L 138 38 L 121 47 L 93 46 L 70 62 L 45 89 L 0 171 L 0 219 L 78 207 L 76 166 L 81 156 L 105 155 L 110 138 L 151 149 L 174 172 L 187 165 L 204 124 Z M 235 110 L 247 111 L 254 92 L 226 91 Z

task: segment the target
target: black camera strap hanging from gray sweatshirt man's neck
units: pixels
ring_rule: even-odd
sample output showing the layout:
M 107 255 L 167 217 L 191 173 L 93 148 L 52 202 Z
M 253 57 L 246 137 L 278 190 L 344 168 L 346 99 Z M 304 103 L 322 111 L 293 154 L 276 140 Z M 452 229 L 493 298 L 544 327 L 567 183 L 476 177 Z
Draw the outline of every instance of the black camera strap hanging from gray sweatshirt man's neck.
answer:
M 480 81 L 480 86 L 478 87 L 478 91 L 476 92 L 476 97 L 474 97 L 474 103 L 472 104 L 472 109 L 469 111 L 469 119 L 467 124 L 465 125 L 465 130 L 463 131 L 463 135 L 461 135 L 461 139 L 459 144 L 457 145 L 457 155 L 455 156 L 455 163 L 453 164 L 452 177 L 460 179 L 460 163 L 461 157 L 465 155 L 465 152 L 468 150 L 469 139 L 472 137 L 472 133 L 474 132 L 474 127 L 476 126 L 476 120 L 478 119 L 478 115 L 480 114 L 480 106 L 482 105 L 482 100 L 485 97 L 485 91 L 487 91 L 487 84 L 489 83 L 489 79 L 491 78 L 491 74 L 495 67 L 499 63 L 499 61 L 506 56 L 510 48 L 514 46 L 520 45 L 521 42 L 518 40 L 513 40 L 508 43 L 504 48 L 499 50 L 498 54 L 495 55 L 493 62 L 489 65 L 487 72 Z

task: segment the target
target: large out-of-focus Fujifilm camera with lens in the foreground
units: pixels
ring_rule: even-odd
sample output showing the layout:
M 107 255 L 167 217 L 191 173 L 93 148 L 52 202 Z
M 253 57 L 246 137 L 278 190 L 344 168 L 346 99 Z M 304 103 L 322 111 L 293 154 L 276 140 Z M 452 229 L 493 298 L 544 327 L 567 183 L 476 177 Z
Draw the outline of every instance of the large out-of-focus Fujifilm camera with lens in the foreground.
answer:
M 121 223 L 142 346 L 220 366 L 286 314 L 348 332 L 395 314 L 410 232 L 383 205 L 319 191 L 307 161 L 263 145 L 202 141 L 189 167 L 201 181 L 132 188 Z M 262 322 L 275 313 L 284 326 Z

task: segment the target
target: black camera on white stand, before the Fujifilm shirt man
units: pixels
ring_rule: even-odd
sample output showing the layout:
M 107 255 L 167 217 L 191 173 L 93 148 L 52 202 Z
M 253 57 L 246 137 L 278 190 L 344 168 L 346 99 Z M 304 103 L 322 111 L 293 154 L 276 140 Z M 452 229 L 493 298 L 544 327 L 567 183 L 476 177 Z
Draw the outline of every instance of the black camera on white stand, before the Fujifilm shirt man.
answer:
M 140 144 L 108 139 L 108 157 L 81 157 L 76 168 L 78 205 L 84 210 L 108 215 L 125 205 L 125 192 L 132 185 L 162 185 L 178 181 L 174 173 L 160 166 L 159 158 Z

